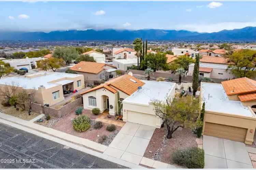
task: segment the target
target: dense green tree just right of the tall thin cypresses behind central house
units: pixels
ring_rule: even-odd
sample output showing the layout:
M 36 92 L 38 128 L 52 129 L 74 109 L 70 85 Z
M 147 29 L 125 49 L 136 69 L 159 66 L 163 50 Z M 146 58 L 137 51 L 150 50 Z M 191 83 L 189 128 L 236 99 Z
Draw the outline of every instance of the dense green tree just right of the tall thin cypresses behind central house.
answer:
M 168 70 L 169 66 L 166 61 L 167 57 L 163 53 L 149 53 L 146 56 L 147 67 L 152 68 L 154 71 L 158 70 L 160 67 L 163 70 Z

